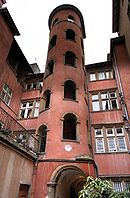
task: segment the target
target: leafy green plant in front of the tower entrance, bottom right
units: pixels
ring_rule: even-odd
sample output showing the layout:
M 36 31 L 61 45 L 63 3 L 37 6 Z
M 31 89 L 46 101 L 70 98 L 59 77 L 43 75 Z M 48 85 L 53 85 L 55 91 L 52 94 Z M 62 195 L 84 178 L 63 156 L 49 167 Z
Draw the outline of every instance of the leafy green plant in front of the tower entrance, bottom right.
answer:
M 114 192 L 107 180 L 87 177 L 83 189 L 78 193 L 79 198 L 129 198 L 126 192 Z

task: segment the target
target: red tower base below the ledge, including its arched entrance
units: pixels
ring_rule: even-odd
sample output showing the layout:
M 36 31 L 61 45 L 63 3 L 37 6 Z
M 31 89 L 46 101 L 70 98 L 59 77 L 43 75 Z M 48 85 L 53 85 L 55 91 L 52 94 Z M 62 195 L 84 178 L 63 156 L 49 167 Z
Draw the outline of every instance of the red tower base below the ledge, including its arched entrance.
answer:
M 33 198 L 75 198 L 86 176 L 96 176 L 96 165 L 86 158 L 40 160 L 35 170 Z

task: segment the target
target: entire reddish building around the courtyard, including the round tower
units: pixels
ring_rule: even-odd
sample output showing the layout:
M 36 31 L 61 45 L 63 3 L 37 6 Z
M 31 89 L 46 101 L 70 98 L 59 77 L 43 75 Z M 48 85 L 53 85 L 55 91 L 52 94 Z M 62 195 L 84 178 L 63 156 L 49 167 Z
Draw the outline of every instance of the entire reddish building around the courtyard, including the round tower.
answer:
M 129 18 L 129 1 L 113 0 L 119 37 L 106 62 L 85 65 L 83 16 L 73 5 L 56 7 L 40 73 L 14 39 L 9 11 L 0 9 L 2 198 L 76 198 L 86 176 L 110 180 L 117 192 L 128 188 Z

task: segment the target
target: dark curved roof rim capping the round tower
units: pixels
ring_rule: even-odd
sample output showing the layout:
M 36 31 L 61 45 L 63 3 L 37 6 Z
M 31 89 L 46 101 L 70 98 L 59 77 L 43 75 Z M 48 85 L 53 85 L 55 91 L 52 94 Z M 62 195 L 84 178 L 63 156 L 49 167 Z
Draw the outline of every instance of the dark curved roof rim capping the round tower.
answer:
M 63 5 L 60 5 L 58 7 L 56 7 L 50 14 L 49 16 L 49 20 L 48 20 L 48 25 L 49 25 L 49 29 L 50 29 L 50 26 L 51 26 L 51 21 L 52 21 L 52 18 L 54 17 L 54 15 L 56 14 L 56 12 L 60 11 L 60 10 L 65 10 L 65 9 L 71 9 L 71 10 L 74 10 L 79 18 L 80 18 L 80 21 L 81 21 L 81 25 L 82 25 L 82 32 L 83 32 L 83 37 L 85 38 L 86 37 L 86 34 L 85 34 L 85 26 L 84 26 L 84 20 L 83 20 L 83 16 L 80 12 L 80 10 L 73 6 L 73 5 L 70 5 L 70 4 L 63 4 Z

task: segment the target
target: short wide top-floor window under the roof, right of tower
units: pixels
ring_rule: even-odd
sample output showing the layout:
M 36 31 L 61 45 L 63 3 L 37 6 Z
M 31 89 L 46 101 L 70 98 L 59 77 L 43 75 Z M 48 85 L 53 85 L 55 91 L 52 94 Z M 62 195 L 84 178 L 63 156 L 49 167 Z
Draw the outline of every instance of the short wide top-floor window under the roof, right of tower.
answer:
M 91 72 L 89 74 L 90 81 L 113 79 L 113 70 Z

